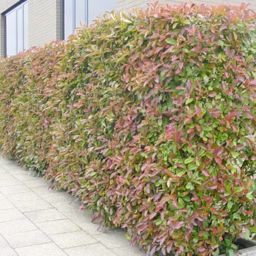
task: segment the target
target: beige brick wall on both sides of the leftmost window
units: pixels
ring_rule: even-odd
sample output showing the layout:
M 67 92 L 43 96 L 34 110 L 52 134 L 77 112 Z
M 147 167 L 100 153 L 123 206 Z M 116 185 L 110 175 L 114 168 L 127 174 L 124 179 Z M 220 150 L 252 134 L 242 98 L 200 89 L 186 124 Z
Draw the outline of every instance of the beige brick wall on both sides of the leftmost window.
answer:
M 18 0 L 0 0 L 0 54 L 4 56 L 4 15 Z M 60 40 L 60 0 L 28 0 L 28 46 Z

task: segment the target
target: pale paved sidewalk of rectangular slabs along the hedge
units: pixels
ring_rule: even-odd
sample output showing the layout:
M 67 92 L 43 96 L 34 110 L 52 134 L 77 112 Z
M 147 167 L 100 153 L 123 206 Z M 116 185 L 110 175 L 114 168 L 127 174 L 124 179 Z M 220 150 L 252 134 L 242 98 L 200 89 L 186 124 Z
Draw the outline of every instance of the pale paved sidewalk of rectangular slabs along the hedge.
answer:
M 145 256 L 121 229 L 97 231 L 79 203 L 0 156 L 0 256 Z

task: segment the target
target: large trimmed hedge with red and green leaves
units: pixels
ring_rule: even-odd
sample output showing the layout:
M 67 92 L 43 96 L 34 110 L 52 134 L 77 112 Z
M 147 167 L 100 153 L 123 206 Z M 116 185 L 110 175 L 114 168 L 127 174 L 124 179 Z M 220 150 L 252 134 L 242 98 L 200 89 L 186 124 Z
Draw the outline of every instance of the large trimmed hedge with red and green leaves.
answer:
M 150 4 L 0 61 L 0 146 L 150 255 L 256 233 L 256 13 Z

